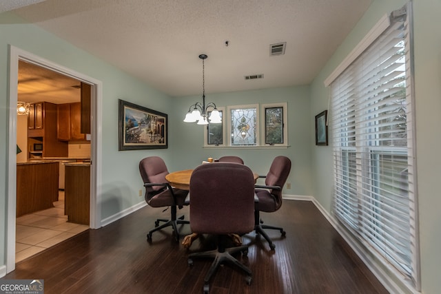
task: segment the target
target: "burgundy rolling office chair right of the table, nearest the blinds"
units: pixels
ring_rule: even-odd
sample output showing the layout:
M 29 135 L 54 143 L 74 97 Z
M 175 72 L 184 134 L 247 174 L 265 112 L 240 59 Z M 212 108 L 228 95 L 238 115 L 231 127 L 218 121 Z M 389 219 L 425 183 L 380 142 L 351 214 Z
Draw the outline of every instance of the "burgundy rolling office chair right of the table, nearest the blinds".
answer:
M 271 167 L 269 167 L 268 174 L 266 176 L 259 176 L 259 178 L 265 178 L 265 185 L 256 185 L 256 188 L 258 188 L 256 189 L 258 202 L 255 204 L 254 211 L 254 231 L 256 231 L 256 235 L 263 235 L 263 238 L 268 241 L 271 250 L 274 250 L 276 246 L 264 229 L 279 230 L 282 236 L 285 235 L 285 231 L 281 227 L 263 224 L 262 220 L 260 220 L 260 211 L 274 212 L 280 209 L 282 206 L 282 189 L 289 176 L 289 171 L 291 171 L 291 160 L 286 156 L 276 156 L 271 163 Z

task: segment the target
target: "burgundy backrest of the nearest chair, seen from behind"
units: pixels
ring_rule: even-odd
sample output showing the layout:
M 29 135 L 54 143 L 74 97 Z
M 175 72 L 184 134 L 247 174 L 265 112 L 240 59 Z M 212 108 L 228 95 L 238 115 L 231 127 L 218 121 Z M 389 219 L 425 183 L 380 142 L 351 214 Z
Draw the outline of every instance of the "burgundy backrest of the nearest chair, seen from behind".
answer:
M 193 233 L 223 235 L 254 229 L 254 176 L 245 165 L 200 165 L 190 178 Z

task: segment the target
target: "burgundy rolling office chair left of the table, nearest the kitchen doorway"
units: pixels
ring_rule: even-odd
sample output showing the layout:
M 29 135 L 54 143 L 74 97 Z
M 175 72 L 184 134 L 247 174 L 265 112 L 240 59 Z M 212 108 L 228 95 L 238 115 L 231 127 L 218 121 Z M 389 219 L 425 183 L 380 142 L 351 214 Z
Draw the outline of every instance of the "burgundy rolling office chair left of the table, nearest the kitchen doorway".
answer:
M 170 220 L 158 218 L 154 224 L 155 228 L 147 233 L 147 240 L 152 240 L 152 233 L 161 230 L 165 227 L 171 226 L 174 231 L 174 238 L 179 240 L 178 224 L 189 224 L 188 220 L 176 218 L 177 207 L 180 209 L 184 205 L 188 205 L 189 201 L 186 200 L 188 191 L 172 188 L 170 184 L 165 180 L 165 176 L 169 174 L 167 166 L 162 158 L 158 156 L 150 156 L 143 158 L 139 162 L 139 171 L 141 178 L 144 181 L 145 187 L 145 201 L 151 207 L 170 207 L 171 218 Z M 159 222 L 165 222 L 159 226 Z

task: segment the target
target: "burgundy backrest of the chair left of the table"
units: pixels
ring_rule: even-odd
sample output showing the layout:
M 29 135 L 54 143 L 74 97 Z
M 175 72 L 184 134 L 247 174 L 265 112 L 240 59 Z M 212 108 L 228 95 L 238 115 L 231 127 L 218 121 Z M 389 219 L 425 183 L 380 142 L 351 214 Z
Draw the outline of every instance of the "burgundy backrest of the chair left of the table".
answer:
M 143 158 L 139 162 L 139 172 L 141 173 L 141 178 L 143 178 L 144 183 L 164 183 L 165 176 L 169 174 L 167 166 L 164 160 L 158 156 L 150 156 Z M 162 186 L 145 187 L 147 194 L 155 195 L 165 188 Z

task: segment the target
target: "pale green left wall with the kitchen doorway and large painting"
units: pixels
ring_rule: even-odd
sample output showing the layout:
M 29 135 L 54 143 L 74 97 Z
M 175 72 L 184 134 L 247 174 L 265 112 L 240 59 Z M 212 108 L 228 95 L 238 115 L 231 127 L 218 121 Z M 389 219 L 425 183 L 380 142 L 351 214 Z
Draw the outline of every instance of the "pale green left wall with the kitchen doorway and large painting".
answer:
M 172 98 L 145 85 L 105 63 L 101 59 L 66 43 L 35 25 L 23 23 L 14 14 L 0 14 L 0 269 L 6 260 L 6 207 L 8 191 L 8 45 L 30 52 L 52 63 L 68 67 L 103 83 L 102 116 L 102 176 L 101 218 L 130 208 L 144 201 L 139 197 L 143 189 L 139 176 L 139 160 L 160 155 L 171 163 L 170 150 L 118 151 L 118 99 L 168 112 Z M 11 106 L 14 111 L 14 105 Z M 170 129 L 173 127 L 171 126 Z M 174 139 L 170 139 L 174 144 Z M 14 185 L 14 183 L 11 183 Z

